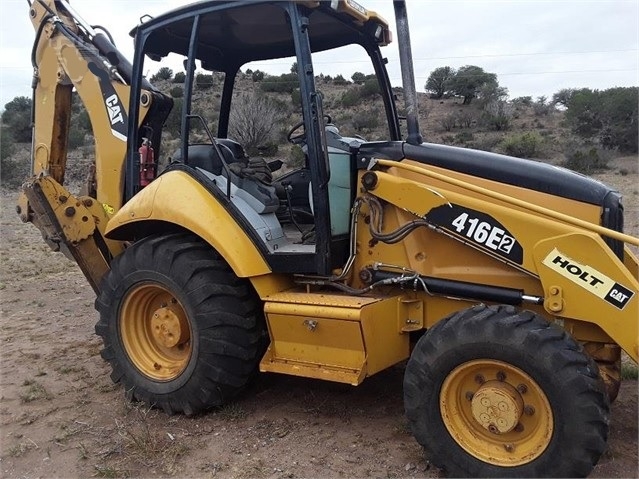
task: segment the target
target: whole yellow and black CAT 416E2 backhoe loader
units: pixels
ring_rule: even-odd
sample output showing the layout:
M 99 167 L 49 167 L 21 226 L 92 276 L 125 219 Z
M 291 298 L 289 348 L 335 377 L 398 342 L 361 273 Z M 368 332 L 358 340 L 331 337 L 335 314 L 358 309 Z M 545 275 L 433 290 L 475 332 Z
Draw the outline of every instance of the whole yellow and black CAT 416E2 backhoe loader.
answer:
M 602 183 L 425 143 L 393 3 L 406 131 L 381 53 L 389 25 L 352 0 L 181 6 L 141 19 L 132 63 L 67 1 L 33 0 L 33 176 L 18 213 L 95 290 L 101 354 L 131 399 L 192 415 L 258 371 L 355 386 L 407 361 L 410 429 L 449 475 L 586 476 L 622 350 L 637 361 L 639 240 Z M 324 111 L 314 59 L 349 45 L 375 72 L 383 141 L 341 136 Z M 174 102 L 144 75 L 167 58 L 185 83 L 179 148 L 161 165 Z M 305 163 L 272 181 L 229 123 L 241 68 L 286 58 L 301 112 L 288 139 Z M 196 69 L 223 78 L 214 121 L 195 111 Z M 64 186 L 74 91 L 95 137 L 81 194 Z

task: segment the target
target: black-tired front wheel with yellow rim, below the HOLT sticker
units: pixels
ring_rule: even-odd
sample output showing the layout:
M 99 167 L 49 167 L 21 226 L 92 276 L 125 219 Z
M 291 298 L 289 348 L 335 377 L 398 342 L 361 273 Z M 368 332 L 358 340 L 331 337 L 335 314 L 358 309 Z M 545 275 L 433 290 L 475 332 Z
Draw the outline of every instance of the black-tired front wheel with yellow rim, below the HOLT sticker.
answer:
M 479 305 L 418 341 L 404 376 L 411 430 L 453 477 L 585 477 L 606 447 L 594 361 L 530 311 Z

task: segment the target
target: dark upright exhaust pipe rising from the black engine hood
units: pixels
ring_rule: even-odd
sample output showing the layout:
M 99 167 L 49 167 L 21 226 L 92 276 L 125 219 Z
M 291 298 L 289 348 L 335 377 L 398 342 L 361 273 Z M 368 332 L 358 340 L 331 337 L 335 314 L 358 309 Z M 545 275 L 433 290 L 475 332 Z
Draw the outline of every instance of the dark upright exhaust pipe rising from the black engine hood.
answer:
M 423 139 L 419 132 L 417 91 L 415 89 L 415 71 L 413 69 L 413 54 L 410 47 L 410 32 L 408 30 L 406 1 L 393 0 L 393 7 L 395 8 L 397 43 L 399 45 L 399 64 L 402 70 L 404 102 L 406 104 L 406 125 L 408 127 L 408 138 L 406 138 L 406 141 L 411 145 L 421 145 Z

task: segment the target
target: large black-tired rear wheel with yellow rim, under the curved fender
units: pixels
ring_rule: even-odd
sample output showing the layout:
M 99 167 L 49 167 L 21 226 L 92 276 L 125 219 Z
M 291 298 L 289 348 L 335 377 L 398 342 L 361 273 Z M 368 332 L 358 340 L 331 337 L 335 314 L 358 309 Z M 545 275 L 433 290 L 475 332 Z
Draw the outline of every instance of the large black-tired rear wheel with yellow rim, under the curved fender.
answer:
M 268 342 L 250 283 L 191 234 L 148 237 L 115 258 L 96 309 L 113 381 L 169 414 L 228 402 Z

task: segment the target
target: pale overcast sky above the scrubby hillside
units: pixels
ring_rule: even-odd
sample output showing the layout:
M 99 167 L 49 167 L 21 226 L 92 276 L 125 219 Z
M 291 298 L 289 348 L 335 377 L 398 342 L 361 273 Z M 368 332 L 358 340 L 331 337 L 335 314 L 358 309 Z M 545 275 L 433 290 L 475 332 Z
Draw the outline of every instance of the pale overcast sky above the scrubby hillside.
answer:
M 180 0 L 72 0 L 89 23 L 107 27 L 132 58 L 128 32 L 143 14 L 157 15 L 189 2 Z M 391 0 L 359 0 L 395 30 Z M 449 65 L 478 65 L 496 73 L 510 97 L 551 96 L 562 88 L 639 85 L 639 0 L 407 0 L 417 89 L 429 73 Z M 30 95 L 34 37 L 26 0 L 0 0 L 0 109 L 17 95 Z M 396 43 L 387 47 L 393 84 L 400 85 Z M 371 72 L 365 58 L 333 58 L 325 73 L 350 78 Z M 290 65 L 264 65 L 277 74 Z

